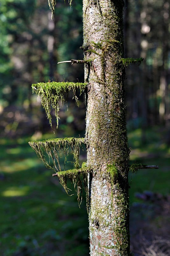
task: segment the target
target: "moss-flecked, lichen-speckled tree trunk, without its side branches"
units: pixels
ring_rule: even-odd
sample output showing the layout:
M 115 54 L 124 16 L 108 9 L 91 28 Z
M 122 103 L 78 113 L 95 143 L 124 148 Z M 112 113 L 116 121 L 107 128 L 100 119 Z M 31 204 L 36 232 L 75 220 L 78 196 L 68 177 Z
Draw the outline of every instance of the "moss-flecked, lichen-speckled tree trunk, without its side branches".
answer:
M 129 255 L 122 0 L 83 0 L 91 256 Z

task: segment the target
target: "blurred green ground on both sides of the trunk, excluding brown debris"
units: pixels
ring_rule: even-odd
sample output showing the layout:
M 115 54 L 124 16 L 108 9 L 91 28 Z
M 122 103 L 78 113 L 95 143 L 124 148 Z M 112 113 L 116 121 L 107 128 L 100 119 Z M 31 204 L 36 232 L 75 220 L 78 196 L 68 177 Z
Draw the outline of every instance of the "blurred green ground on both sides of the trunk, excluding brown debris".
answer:
M 131 204 L 138 201 L 135 192 L 170 193 L 170 150 L 162 133 L 148 129 L 145 143 L 141 129 L 128 136 L 133 148 L 130 164 L 160 166 L 129 175 Z M 42 139 L 49 138 L 52 135 Z M 79 209 L 76 195 L 67 196 L 58 179 L 52 177 L 53 171 L 44 167 L 28 145 L 29 140 L 0 139 L 0 255 L 88 255 L 85 196 Z

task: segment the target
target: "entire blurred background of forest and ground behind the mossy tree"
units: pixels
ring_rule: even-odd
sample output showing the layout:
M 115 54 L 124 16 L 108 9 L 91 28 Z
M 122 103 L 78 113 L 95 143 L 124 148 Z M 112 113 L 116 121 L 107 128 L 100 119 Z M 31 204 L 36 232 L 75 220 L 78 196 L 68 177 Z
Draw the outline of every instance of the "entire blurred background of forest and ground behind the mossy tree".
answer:
M 53 134 L 40 98 L 31 89 L 38 82 L 84 82 L 83 65 L 57 65 L 83 59 L 82 1 L 73 1 L 71 8 L 63 2 L 57 1 L 54 20 L 47 0 L 0 2 L 2 256 L 89 253 L 85 202 L 79 212 L 76 197 L 67 198 L 28 146 L 29 140 L 85 133 L 83 95 L 77 108 L 68 94 L 58 130 L 53 115 Z M 124 7 L 124 57 L 144 58 L 141 65 L 126 69 L 130 160 L 160 165 L 159 171 L 140 171 L 132 182 L 130 177 L 135 256 L 170 255 L 169 10 L 168 0 L 126 0 Z M 81 162 L 85 157 L 83 153 Z

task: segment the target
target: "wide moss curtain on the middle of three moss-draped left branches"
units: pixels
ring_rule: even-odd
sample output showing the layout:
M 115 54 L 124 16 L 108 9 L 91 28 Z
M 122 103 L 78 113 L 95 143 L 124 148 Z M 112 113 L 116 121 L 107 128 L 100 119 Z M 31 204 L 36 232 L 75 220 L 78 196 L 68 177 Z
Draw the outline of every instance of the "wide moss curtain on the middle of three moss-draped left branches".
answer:
M 84 138 L 62 138 L 62 139 L 50 139 L 50 140 L 37 140 L 30 141 L 29 145 L 35 150 L 37 156 L 42 160 L 47 168 L 53 169 L 55 172 L 61 171 L 59 158 L 64 154 L 64 165 L 67 162 L 67 156 L 71 149 L 74 157 L 74 169 L 78 169 L 80 147 L 85 144 Z M 46 160 L 46 154 L 49 157 L 49 161 Z M 63 153 L 62 153 L 63 152 Z M 53 162 L 53 166 L 50 165 L 50 160 Z

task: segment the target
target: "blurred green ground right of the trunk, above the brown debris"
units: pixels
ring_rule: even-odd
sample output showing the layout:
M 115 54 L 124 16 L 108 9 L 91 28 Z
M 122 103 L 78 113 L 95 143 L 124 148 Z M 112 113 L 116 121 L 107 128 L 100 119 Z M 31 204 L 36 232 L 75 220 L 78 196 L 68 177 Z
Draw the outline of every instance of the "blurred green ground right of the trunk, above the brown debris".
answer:
M 170 194 L 170 148 L 166 144 L 166 131 L 162 127 L 136 129 L 128 132 L 131 147 L 130 164 L 158 165 L 159 169 L 138 169 L 129 173 L 130 203 L 138 202 L 135 193 L 149 190 Z

